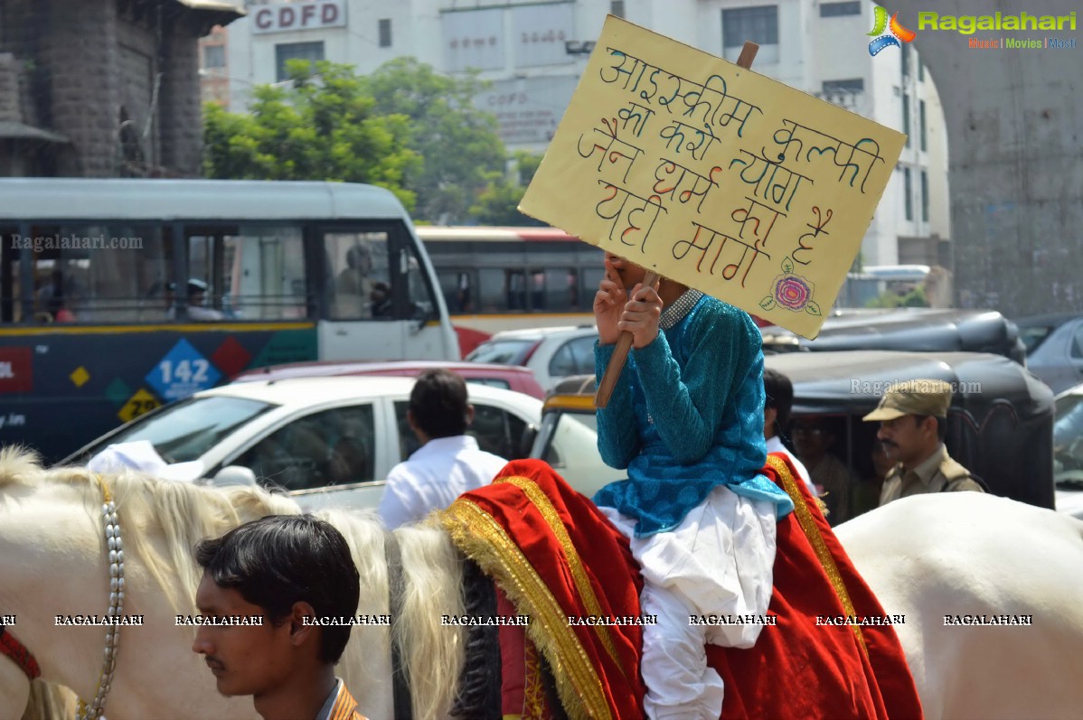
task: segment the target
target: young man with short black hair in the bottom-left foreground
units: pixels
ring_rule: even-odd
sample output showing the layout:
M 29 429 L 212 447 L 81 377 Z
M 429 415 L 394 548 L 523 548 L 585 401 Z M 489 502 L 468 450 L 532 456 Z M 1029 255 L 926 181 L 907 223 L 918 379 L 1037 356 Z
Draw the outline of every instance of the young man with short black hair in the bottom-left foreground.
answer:
M 366 720 L 335 664 L 361 578 L 342 535 L 312 515 L 271 515 L 196 546 L 201 623 L 192 650 L 223 695 L 251 695 L 264 720 Z M 251 620 L 260 621 L 253 625 Z

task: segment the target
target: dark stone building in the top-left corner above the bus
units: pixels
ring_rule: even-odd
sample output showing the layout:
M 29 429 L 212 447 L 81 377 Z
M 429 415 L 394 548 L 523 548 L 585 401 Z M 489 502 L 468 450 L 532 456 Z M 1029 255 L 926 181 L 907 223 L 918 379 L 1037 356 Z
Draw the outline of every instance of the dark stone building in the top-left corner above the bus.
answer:
M 0 0 L 0 174 L 195 176 L 217 0 Z

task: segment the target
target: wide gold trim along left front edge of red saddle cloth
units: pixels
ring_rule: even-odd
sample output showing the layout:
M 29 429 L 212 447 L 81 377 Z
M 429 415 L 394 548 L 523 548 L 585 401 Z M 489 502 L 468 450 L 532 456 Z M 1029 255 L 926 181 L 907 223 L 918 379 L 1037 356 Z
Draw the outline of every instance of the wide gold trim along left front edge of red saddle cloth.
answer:
M 520 612 L 530 613 L 526 636 L 549 659 L 569 717 L 611 719 L 601 679 L 567 616 L 504 528 L 464 497 L 444 511 L 442 522 L 455 546 L 499 584 Z

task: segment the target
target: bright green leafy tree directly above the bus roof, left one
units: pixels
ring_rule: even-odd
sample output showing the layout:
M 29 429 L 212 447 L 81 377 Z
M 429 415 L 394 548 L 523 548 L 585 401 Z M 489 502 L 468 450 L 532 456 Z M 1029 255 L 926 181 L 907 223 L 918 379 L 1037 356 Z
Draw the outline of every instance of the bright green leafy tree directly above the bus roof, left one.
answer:
M 380 113 L 351 67 L 288 63 L 289 82 L 258 86 L 250 115 L 205 105 L 204 171 L 235 180 L 330 180 L 370 183 L 395 193 L 421 167 L 403 115 Z

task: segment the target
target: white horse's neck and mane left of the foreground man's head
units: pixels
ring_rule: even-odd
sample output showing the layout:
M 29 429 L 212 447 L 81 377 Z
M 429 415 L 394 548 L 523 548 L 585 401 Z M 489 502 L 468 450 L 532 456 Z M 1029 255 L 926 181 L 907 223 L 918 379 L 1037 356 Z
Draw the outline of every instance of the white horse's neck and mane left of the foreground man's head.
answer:
M 174 616 L 195 612 L 198 540 L 253 518 L 299 512 L 261 489 L 224 493 L 131 472 L 45 470 L 32 454 L 0 450 L 0 615 L 15 616 L 8 630 L 37 658 L 43 679 L 94 697 L 106 628 L 56 618 L 107 615 L 117 587 L 110 588 L 102 512 L 106 492 L 123 540 L 122 613 L 143 621 L 120 630 L 108 716 L 157 717 L 169 704 L 187 717 L 251 715 L 247 698 L 218 696 L 191 650 L 192 628 L 178 627 Z M 22 715 L 28 688 L 15 663 L 0 657 L 0 718 Z

